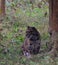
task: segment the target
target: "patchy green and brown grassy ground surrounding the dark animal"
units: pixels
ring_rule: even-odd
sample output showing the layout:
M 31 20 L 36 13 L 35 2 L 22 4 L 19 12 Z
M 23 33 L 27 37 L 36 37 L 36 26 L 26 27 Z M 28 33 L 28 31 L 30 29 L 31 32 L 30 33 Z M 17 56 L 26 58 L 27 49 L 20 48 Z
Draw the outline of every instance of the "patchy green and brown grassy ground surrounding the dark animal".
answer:
M 6 3 L 8 5 L 6 16 L 0 19 L 0 65 L 58 65 L 58 57 L 51 58 L 46 46 L 50 37 L 48 7 L 43 4 L 42 8 L 36 6 L 32 10 L 28 3 L 26 6 L 25 2 L 21 2 L 22 6 L 16 6 L 17 3 L 15 3 L 12 2 L 10 5 Z M 41 50 L 44 51 L 33 55 L 30 59 L 22 55 L 21 52 L 27 26 L 34 26 L 40 32 Z

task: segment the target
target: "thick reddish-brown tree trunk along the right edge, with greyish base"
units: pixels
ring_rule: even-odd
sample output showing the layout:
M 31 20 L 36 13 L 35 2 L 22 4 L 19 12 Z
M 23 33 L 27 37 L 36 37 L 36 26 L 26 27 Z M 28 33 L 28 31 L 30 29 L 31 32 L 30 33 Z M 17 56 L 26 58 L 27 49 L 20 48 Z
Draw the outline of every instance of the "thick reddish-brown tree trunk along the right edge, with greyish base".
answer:
M 51 41 L 54 43 L 51 54 L 56 55 L 56 51 L 58 51 L 58 0 L 49 0 L 49 13 Z

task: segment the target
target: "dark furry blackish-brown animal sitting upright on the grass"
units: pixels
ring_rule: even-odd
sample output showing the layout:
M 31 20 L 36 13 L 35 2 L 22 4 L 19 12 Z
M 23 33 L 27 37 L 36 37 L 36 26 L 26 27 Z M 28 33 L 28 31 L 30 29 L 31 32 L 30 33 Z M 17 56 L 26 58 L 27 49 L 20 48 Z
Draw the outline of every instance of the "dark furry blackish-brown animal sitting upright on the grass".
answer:
M 40 50 L 41 38 L 40 33 L 35 27 L 27 27 L 26 38 L 22 45 L 23 52 L 38 54 Z

